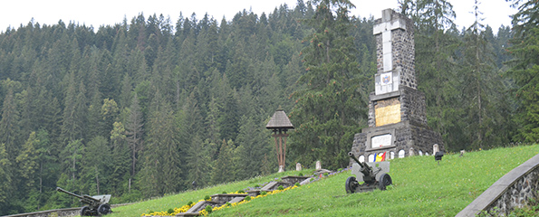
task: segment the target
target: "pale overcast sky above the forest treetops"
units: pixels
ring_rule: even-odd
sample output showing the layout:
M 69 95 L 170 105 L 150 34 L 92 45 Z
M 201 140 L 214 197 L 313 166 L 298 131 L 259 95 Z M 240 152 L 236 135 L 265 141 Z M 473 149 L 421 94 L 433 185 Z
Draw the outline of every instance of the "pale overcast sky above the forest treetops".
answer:
M 306 2 L 306 0 L 304 0 Z M 356 9 L 351 15 L 374 18 L 381 17 L 381 10 L 397 8 L 397 0 L 351 0 Z M 474 23 L 473 10 L 474 0 L 449 0 L 453 10 L 457 14 L 455 23 L 458 29 L 468 27 Z M 223 16 L 227 21 L 237 13 L 246 9 L 255 14 L 272 13 L 276 6 L 286 4 L 294 8 L 297 0 L 9 0 L 0 5 L 0 32 L 4 33 L 8 26 L 18 28 L 21 24 L 28 24 L 32 18 L 39 24 L 57 24 L 62 20 L 65 24 L 86 24 L 98 29 L 101 25 L 120 24 L 126 17 L 128 22 L 132 17 L 141 12 L 146 18 L 150 14 L 163 14 L 169 16 L 173 24 L 176 23 L 179 13 L 184 16 L 197 14 L 200 19 L 208 14 L 221 21 Z M 484 24 L 493 27 L 495 33 L 501 25 L 510 25 L 510 14 L 515 14 L 515 9 L 509 6 L 505 0 L 483 0 L 479 10 L 485 20 Z

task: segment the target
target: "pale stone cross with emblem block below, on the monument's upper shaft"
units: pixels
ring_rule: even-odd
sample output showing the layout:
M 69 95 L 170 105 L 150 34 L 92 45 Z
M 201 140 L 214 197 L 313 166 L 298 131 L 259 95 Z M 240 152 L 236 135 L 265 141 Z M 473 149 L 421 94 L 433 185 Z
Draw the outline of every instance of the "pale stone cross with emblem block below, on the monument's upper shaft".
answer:
M 373 27 L 373 34 L 377 35 L 381 33 L 382 38 L 382 71 L 377 74 L 376 77 L 376 95 L 386 92 L 398 90 L 399 88 L 399 75 L 393 76 L 391 72 L 393 70 L 393 42 L 391 40 L 391 31 L 396 29 L 403 29 L 406 31 L 406 21 L 404 19 L 391 19 L 391 9 L 382 11 L 381 23 L 375 24 Z M 393 85 L 393 79 L 397 78 L 397 82 Z M 393 87 L 395 86 L 395 87 Z

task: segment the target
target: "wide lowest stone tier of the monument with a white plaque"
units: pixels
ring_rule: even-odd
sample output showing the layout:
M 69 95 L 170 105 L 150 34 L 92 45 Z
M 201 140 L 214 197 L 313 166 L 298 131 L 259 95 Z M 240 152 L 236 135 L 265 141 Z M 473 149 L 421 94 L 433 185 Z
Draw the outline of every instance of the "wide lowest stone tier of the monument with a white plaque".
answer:
M 384 152 L 386 159 L 434 155 L 435 144 L 438 144 L 440 151 L 445 150 L 438 132 L 428 127 L 410 124 L 410 121 L 402 121 L 381 127 L 363 128 L 361 133 L 355 135 L 351 152 L 360 160 L 369 162 L 372 161 L 369 156 Z

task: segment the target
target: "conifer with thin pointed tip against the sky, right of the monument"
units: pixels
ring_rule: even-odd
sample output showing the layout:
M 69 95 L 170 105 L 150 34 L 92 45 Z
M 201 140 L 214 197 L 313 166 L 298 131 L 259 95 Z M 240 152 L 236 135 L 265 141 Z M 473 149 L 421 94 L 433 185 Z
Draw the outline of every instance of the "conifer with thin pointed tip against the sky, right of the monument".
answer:
M 467 144 L 473 148 L 485 148 L 508 142 L 505 129 L 511 124 L 504 118 L 508 110 L 507 103 L 502 102 L 506 101 L 505 86 L 496 68 L 492 44 L 486 40 L 488 28 L 480 23 L 482 13 L 477 0 L 474 14 L 476 22 L 467 29 L 464 38 L 466 49 L 462 77 L 466 80 L 462 80 L 461 90 L 467 103 L 463 106 L 466 113 L 461 118 L 467 118 Z

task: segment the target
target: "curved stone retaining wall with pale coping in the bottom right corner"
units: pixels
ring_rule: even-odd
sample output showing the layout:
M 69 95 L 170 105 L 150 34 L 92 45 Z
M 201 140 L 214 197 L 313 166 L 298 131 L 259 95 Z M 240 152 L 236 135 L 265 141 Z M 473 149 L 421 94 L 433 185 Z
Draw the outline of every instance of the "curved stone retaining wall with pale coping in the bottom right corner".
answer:
M 537 198 L 538 191 L 539 155 L 536 155 L 498 179 L 457 216 L 476 216 L 480 212 L 507 216 Z

